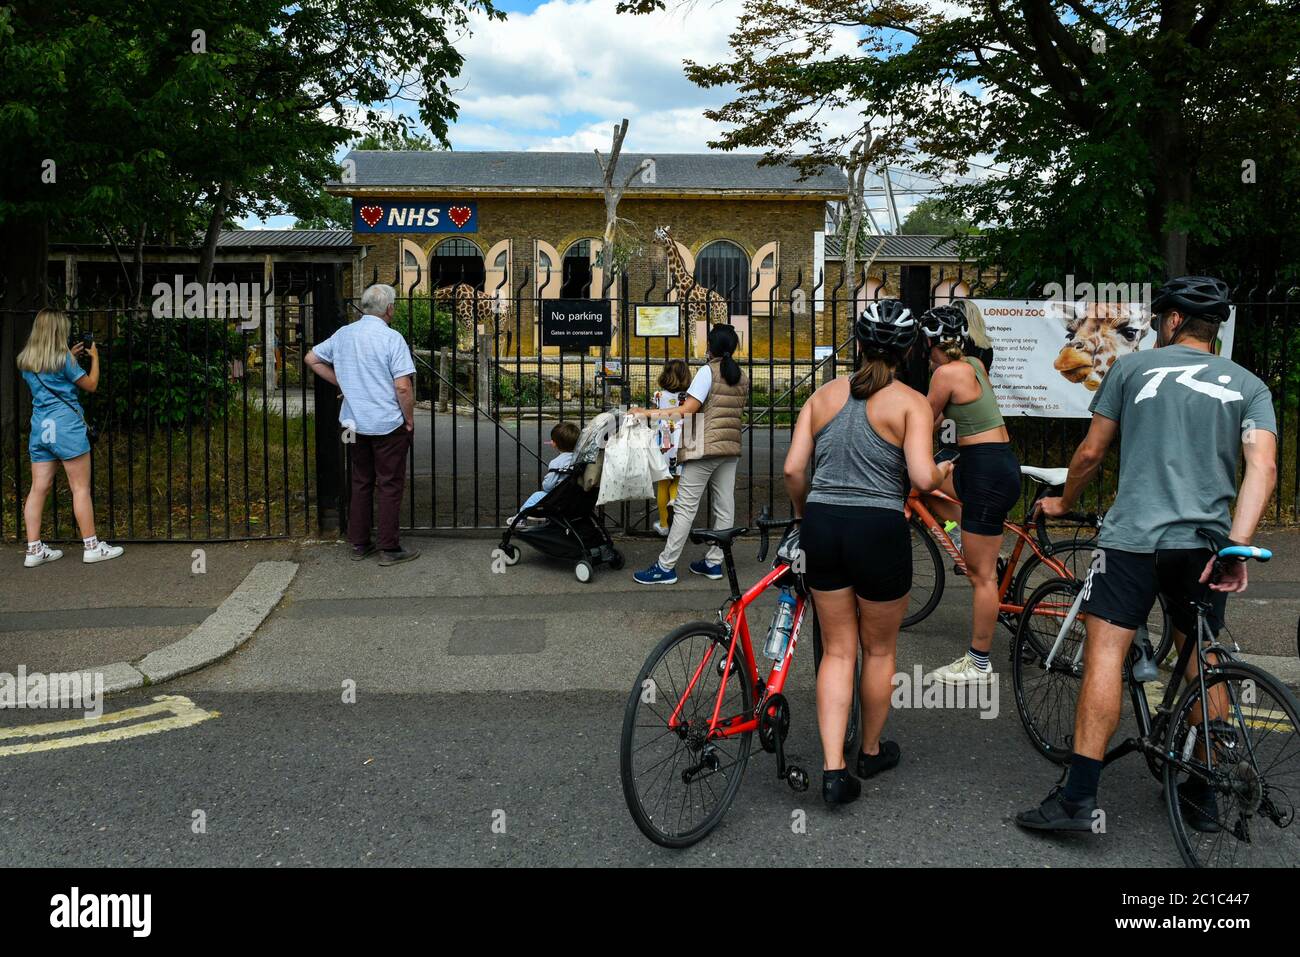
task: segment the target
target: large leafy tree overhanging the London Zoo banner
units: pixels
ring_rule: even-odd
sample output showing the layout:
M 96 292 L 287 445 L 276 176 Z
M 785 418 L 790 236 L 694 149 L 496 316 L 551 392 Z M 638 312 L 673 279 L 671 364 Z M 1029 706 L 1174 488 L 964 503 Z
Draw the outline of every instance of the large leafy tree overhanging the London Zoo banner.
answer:
M 1020 281 L 1157 278 L 1231 246 L 1242 209 L 1266 213 L 1248 229 L 1261 244 L 1294 248 L 1297 12 L 1297 0 L 746 0 L 729 59 L 688 62 L 686 75 L 733 91 L 706 112 L 727 126 L 714 147 L 812 172 L 875 131 L 896 137 L 884 159 L 966 177 L 942 199 L 983 228 L 967 251 Z M 852 52 L 836 38 L 845 27 Z M 1252 157 L 1268 186 L 1236 207 Z

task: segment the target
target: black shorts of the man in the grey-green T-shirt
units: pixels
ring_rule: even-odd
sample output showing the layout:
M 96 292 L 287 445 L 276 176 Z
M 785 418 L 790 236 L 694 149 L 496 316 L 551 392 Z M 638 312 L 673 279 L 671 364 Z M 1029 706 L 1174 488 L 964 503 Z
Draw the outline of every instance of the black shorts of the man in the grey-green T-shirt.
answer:
M 1082 610 L 1121 628 L 1147 624 L 1147 616 L 1164 596 L 1174 627 L 1183 635 L 1196 631 L 1192 599 L 1201 594 L 1197 581 L 1210 560 L 1209 549 L 1161 549 L 1160 551 L 1119 551 L 1098 549 L 1083 583 Z M 1210 631 L 1218 635 L 1227 607 L 1227 594 L 1210 592 L 1213 614 Z

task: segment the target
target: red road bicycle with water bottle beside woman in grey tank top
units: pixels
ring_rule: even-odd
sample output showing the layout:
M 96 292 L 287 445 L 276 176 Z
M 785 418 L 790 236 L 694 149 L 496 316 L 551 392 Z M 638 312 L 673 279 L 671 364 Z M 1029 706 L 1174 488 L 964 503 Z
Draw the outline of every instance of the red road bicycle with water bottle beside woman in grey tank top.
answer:
M 771 529 L 784 534 L 772 570 L 744 594 L 732 542 L 749 529 L 692 531 L 697 545 L 723 550 L 731 594 L 715 620 L 684 624 L 660 641 L 628 697 L 619 748 L 623 796 L 641 832 L 666 848 L 689 846 L 718 826 L 740 789 L 755 731 L 763 750 L 776 754 L 777 779 L 794 791 L 809 787 L 807 771 L 785 757 L 790 706 L 781 692 L 812 603 L 796 573 L 794 520 L 755 524 L 759 562 Z M 745 612 L 770 588 L 789 588 L 796 605 L 789 644 L 763 676 Z

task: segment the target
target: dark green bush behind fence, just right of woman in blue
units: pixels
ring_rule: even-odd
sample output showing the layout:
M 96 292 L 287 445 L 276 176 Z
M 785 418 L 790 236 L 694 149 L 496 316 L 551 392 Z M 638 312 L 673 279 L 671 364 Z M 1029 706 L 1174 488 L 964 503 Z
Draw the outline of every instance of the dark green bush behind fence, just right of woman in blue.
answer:
M 96 393 L 100 428 L 185 429 L 221 419 L 234 393 L 230 364 L 246 355 L 238 328 L 220 319 L 121 317 L 104 348 Z

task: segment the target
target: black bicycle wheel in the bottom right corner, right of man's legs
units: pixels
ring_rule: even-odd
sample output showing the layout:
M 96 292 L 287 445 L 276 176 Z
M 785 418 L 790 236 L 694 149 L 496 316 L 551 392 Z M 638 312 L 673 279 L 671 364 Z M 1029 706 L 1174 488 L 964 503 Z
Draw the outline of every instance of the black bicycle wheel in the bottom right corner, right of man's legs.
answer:
M 1197 683 L 1183 692 L 1166 749 L 1182 755 L 1165 762 L 1165 807 L 1183 863 L 1295 867 L 1300 862 L 1300 715 L 1286 685 L 1251 664 L 1221 664 L 1206 675 L 1205 698 Z M 1197 797 L 1197 783 L 1208 784 L 1213 796 Z

